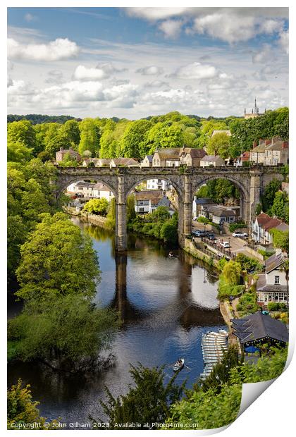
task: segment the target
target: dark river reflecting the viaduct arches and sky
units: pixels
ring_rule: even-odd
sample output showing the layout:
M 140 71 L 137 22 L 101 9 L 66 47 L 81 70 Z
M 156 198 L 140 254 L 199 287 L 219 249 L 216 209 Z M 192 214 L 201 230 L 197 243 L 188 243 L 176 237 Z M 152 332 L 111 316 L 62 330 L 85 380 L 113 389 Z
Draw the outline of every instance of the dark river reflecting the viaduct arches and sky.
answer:
M 107 230 L 72 219 L 92 237 L 99 254 L 101 282 L 95 301 L 120 310 L 123 321 L 113 342 L 113 367 L 102 374 L 69 377 L 55 374 L 38 364 L 10 364 L 8 383 L 22 378 L 30 383 L 40 402 L 42 416 L 62 421 L 88 422 L 106 419 L 97 400 L 106 400 L 104 386 L 115 396 L 124 394 L 130 383 L 129 363 L 152 367 L 169 366 L 178 357 L 187 367 L 177 381 L 192 386 L 203 371 L 201 339 L 209 329 L 225 328 L 218 309 L 217 276 L 201 261 L 182 250 L 168 249 L 155 240 L 129 235 L 127 254 L 115 254 L 114 236 Z

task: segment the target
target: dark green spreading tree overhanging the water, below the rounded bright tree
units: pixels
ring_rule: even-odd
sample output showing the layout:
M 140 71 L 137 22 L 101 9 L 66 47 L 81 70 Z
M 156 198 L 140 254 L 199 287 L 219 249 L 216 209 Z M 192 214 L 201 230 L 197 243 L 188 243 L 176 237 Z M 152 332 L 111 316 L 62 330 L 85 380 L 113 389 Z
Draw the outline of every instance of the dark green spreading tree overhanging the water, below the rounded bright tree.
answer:
M 79 290 L 76 293 L 30 302 L 8 321 L 8 340 L 16 343 L 18 359 L 70 371 L 99 363 L 99 353 L 111 345 L 117 316 L 111 309 L 94 307 Z

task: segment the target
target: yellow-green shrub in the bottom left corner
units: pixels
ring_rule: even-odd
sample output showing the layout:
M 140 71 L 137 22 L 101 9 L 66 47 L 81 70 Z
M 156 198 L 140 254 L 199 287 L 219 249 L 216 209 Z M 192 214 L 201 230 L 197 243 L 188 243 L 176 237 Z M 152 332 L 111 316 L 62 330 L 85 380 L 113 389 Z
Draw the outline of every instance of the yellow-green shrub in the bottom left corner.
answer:
M 39 402 L 32 400 L 30 386 L 23 386 L 22 380 L 18 379 L 7 390 L 7 429 L 16 430 L 17 425 L 23 424 L 32 424 L 32 429 L 54 429 L 57 421 L 51 421 L 49 426 L 45 426 L 47 419 L 40 416 L 37 405 Z

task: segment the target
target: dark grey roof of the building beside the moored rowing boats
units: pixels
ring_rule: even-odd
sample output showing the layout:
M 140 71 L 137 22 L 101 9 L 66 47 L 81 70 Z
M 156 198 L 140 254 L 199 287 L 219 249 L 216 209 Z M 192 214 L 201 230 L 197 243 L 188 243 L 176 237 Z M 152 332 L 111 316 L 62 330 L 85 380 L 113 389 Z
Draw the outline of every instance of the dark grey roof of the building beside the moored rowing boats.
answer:
M 273 319 L 257 312 L 249 314 L 243 319 L 232 319 L 233 333 L 240 338 L 241 343 L 248 343 L 261 338 L 273 338 L 274 340 L 288 342 L 289 335 L 282 321 Z

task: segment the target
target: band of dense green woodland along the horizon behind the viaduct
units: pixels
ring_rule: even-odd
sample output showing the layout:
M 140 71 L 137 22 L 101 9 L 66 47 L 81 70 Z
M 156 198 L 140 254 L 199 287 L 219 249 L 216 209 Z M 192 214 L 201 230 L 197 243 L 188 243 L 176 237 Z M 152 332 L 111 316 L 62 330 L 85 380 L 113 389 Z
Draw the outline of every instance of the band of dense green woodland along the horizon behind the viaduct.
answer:
M 252 148 L 260 138 L 279 136 L 288 140 L 288 108 L 267 111 L 264 115 L 245 120 L 227 117 L 204 119 L 184 116 L 178 112 L 130 121 L 125 118 L 84 118 L 82 121 L 59 116 L 27 116 L 29 120 L 12 121 L 8 116 L 8 161 L 26 161 L 39 156 L 42 161 L 54 159 L 63 147 L 89 156 L 118 156 L 142 159 L 157 147 L 205 147 L 208 154 L 223 157 L 239 156 Z M 23 117 L 23 116 L 20 116 Z M 37 123 L 36 120 L 42 120 Z M 49 122 L 50 121 L 50 122 Z M 35 124 L 36 123 L 36 124 Z M 215 135 L 213 130 L 230 130 L 231 137 Z

